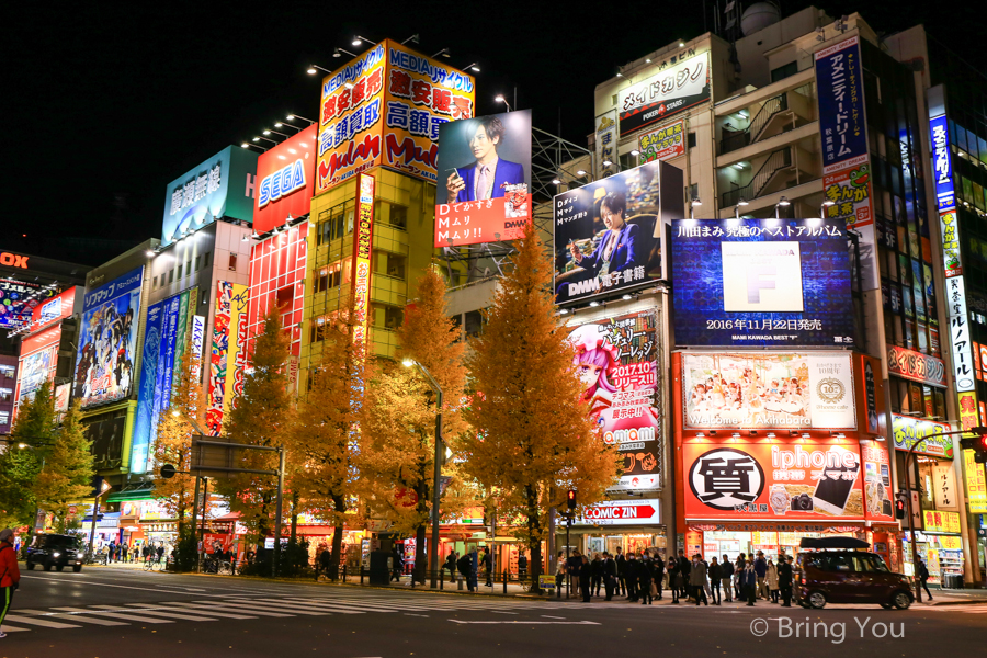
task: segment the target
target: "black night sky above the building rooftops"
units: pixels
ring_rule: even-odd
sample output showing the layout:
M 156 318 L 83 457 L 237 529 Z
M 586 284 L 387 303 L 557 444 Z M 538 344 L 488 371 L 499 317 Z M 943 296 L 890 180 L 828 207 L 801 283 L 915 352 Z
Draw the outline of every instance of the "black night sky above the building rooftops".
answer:
M 616 65 L 704 32 L 694 2 L 41 4 L 5 8 L 0 247 L 90 264 L 125 247 L 103 254 L 52 238 L 159 237 L 166 184 L 290 112 L 317 118 L 321 73 L 305 69 L 344 64 L 332 58 L 337 46 L 364 52 L 351 45 L 354 34 L 419 33 L 423 54 L 449 47 L 451 66 L 478 63 L 477 114 L 502 111 L 494 97 L 517 86 L 536 126 L 557 133 L 560 113 L 561 136 L 585 145 L 597 83 Z M 833 16 L 861 8 L 885 32 L 922 21 L 967 61 L 985 60 L 978 2 L 816 4 Z M 708 3 L 708 29 L 712 11 Z

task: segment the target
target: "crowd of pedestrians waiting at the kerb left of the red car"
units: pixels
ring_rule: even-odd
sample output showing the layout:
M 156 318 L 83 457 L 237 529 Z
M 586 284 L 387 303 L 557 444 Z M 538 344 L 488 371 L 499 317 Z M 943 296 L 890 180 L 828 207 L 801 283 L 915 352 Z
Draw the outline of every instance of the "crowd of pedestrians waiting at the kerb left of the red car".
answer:
M 667 560 L 657 548 L 626 555 L 617 548 L 615 554 L 604 551 L 592 558 L 578 549 L 568 557 L 560 551 L 555 570 L 556 597 L 561 597 L 568 578 L 570 591 L 587 603 L 601 597 L 602 591 L 605 601 L 619 597 L 642 605 L 668 595 L 674 605 L 721 605 L 724 600 L 753 605 L 760 599 L 791 608 L 792 563 L 791 555 L 782 553 L 772 561 L 761 551 L 750 557 L 741 553 L 733 561 L 726 554 L 723 561 L 715 556 L 707 561 L 699 553 L 690 559 L 682 549 L 678 557 Z

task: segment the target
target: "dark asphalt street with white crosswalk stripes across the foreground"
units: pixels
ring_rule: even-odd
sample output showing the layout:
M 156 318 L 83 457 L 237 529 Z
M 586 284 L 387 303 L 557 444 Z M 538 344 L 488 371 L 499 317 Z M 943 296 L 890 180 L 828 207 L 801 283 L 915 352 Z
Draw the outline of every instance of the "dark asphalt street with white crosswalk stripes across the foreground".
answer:
M 822 611 L 469 597 L 128 568 L 23 571 L 0 658 L 979 655 L 987 603 Z M 597 602 L 600 601 L 600 602 Z M 806 624 L 808 622 L 809 624 Z M 756 635 L 757 634 L 757 635 Z

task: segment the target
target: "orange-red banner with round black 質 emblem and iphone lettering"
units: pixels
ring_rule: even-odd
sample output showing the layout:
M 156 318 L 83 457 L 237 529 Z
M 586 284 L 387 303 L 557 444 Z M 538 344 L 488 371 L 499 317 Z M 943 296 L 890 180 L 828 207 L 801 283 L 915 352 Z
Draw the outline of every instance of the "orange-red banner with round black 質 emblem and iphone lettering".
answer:
M 687 443 L 682 449 L 687 519 L 864 519 L 855 442 Z

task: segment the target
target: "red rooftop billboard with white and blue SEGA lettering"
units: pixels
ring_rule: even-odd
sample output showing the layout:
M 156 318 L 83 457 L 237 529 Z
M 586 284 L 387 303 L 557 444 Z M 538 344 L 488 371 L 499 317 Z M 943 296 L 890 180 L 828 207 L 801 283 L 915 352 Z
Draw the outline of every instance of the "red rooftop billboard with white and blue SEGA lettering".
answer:
M 253 230 L 263 234 L 285 219 L 307 215 L 315 193 L 316 138 L 313 124 L 257 159 Z

